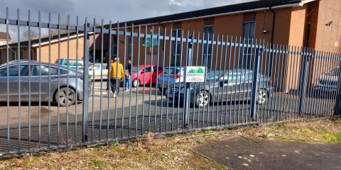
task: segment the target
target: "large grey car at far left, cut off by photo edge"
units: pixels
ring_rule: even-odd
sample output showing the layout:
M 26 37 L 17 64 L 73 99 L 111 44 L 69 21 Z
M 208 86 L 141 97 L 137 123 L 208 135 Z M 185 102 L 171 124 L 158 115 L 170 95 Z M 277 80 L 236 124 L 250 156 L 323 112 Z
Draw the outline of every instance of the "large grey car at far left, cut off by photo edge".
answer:
M 71 106 L 76 101 L 83 100 L 83 74 L 75 69 L 69 69 L 67 81 L 67 67 L 59 66 L 59 86 L 58 86 L 58 64 L 48 64 L 31 61 L 31 68 L 28 67 L 28 61 L 20 62 L 12 61 L 9 65 L 9 91 L 7 91 L 7 64 L 0 65 L 0 101 L 7 101 L 7 93 L 9 93 L 9 101 L 18 101 L 19 86 L 18 76 L 20 70 L 20 95 L 21 101 L 27 102 L 31 98 L 32 102 L 38 102 L 39 96 L 42 102 L 59 102 L 60 106 Z M 31 69 L 31 96 L 28 95 L 28 69 Z M 39 81 L 40 77 L 40 81 Z M 50 79 L 50 91 L 48 89 Z M 77 79 L 77 86 L 76 86 Z M 68 88 L 67 88 L 68 83 Z M 40 90 L 39 90 L 40 84 Z M 90 84 L 90 82 L 89 82 Z M 58 89 L 60 94 L 58 95 Z M 67 94 L 68 91 L 68 94 Z M 89 91 L 90 93 L 90 91 Z M 49 98 L 50 94 L 50 98 Z M 67 98 L 68 95 L 68 98 Z M 68 101 L 67 101 L 68 99 Z

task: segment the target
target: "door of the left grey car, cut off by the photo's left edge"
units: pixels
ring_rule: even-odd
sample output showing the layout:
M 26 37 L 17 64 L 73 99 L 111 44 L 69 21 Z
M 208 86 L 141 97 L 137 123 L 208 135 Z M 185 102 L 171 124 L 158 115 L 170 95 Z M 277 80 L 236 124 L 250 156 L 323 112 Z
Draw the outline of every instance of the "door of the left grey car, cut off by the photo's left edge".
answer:
M 21 64 L 20 67 L 18 64 L 9 66 L 9 89 L 7 89 L 7 67 L 2 67 L 0 69 L 0 98 L 1 101 L 7 101 L 7 94 L 9 94 L 10 101 L 18 101 L 19 95 L 19 71 L 20 71 L 20 94 L 21 96 L 25 94 L 23 91 L 23 77 L 27 73 L 27 65 Z

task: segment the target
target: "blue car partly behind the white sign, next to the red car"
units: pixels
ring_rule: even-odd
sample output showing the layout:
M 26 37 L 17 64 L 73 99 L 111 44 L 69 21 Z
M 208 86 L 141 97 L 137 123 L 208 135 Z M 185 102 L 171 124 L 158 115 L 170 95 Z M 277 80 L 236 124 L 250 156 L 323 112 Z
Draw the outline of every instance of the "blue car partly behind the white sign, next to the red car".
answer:
M 185 67 L 167 67 L 163 69 L 163 74 L 158 76 L 158 89 L 166 95 L 168 86 L 184 82 L 183 75 L 185 75 Z

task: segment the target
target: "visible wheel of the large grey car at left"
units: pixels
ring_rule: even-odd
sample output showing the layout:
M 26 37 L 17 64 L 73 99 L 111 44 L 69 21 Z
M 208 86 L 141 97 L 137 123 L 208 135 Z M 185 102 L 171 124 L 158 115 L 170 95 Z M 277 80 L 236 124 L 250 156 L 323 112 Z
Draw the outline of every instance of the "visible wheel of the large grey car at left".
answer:
M 67 87 L 63 87 L 59 91 L 60 91 L 59 95 L 58 95 L 58 91 L 55 94 L 55 101 L 57 101 L 60 106 L 65 107 L 65 106 L 72 106 L 73 104 L 75 104 L 76 94 L 73 89 L 69 87 L 67 90 Z M 69 93 L 68 97 L 67 97 L 67 92 Z

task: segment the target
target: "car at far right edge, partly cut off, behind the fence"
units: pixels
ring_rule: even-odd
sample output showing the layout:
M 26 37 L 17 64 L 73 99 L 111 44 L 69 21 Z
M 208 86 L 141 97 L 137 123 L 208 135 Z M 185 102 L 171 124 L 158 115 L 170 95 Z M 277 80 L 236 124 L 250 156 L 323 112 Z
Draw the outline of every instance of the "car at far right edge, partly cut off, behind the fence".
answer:
M 319 79 L 316 89 L 318 91 L 337 91 L 337 84 L 340 75 L 340 67 L 328 70 Z

